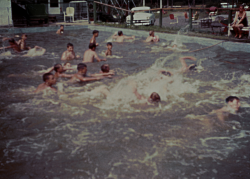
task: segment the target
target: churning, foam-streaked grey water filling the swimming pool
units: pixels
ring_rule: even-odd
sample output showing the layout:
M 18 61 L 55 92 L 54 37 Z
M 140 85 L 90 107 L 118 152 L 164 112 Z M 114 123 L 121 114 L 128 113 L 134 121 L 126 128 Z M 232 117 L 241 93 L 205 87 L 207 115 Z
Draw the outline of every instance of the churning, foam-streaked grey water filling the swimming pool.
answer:
M 113 78 L 88 84 L 68 84 L 63 79 L 56 87 L 64 95 L 31 94 L 42 83 L 41 71 L 61 63 L 67 43 L 73 43 L 82 57 L 91 34 L 88 29 L 63 36 L 55 32 L 28 34 L 27 45 L 46 48 L 44 56 L 1 57 L 1 177 L 249 176 L 249 53 L 219 46 L 174 53 L 162 46 L 172 42 L 168 39 L 146 44 L 137 38 L 131 43 L 113 43 L 113 55 L 121 58 L 87 64 L 89 73 L 110 64 L 116 71 Z M 98 54 L 106 50 L 111 35 L 99 33 Z M 183 49 L 191 51 L 205 47 L 183 44 Z M 179 57 L 185 55 L 197 58 L 197 70 L 174 76 L 171 84 L 152 83 L 159 69 L 174 71 L 180 67 Z M 138 92 L 145 96 L 158 92 L 162 103 L 138 104 L 127 87 L 128 79 L 136 81 Z M 111 97 L 93 92 L 101 85 L 107 86 Z M 219 124 L 209 113 L 221 108 L 229 95 L 238 96 L 242 108 Z

